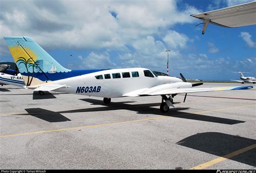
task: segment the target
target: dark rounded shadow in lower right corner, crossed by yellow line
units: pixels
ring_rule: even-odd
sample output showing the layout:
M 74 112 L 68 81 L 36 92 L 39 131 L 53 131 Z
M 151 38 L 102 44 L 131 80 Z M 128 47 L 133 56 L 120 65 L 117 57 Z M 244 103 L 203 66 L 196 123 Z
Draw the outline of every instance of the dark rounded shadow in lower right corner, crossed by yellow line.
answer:
M 225 157 L 227 154 L 254 145 L 255 143 L 256 140 L 254 139 L 217 132 L 198 133 L 177 142 L 180 146 L 221 157 Z M 256 148 L 229 159 L 256 167 Z

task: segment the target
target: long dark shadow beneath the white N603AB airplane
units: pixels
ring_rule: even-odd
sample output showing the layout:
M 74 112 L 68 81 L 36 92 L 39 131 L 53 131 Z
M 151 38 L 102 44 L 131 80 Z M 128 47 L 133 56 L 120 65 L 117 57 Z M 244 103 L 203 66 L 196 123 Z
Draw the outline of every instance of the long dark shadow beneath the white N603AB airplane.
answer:
M 41 108 L 32 108 L 32 109 L 25 109 L 25 110 L 31 116 L 34 116 L 49 122 L 70 121 L 70 119 L 64 117 L 62 113 L 99 112 L 99 111 L 113 111 L 113 110 L 129 110 L 129 111 L 135 111 L 138 114 L 156 114 L 159 116 L 169 116 L 169 117 L 175 117 L 175 118 L 215 122 L 215 123 L 227 124 L 227 125 L 233 125 L 233 124 L 245 122 L 245 121 L 240 121 L 235 119 L 219 118 L 219 117 L 205 116 L 203 114 L 183 112 L 183 110 L 190 109 L 189 107 L 176 107 L 176 108 L 170 109 L 169 113 L 161 113 L 159 108 L 153 107 L 153 106 L 160 106 L 160 103 L 129 104 L 129 103 L 134 103 L 130 101 L 130 102 L 116 102 L 116 103 L 111 102 L 110 104 L 104 104 L 102 100 L 98 100 L 98 99 L 85 98 L 80 100 L 89 102 L 92 105 L 102 105 L 103 107 L 92 107 L 92 108 L 86 108 L 86 109 L 77 109 L 77 110 L 68 110 L 68 111 L 59 111 L 59 112 L 49 111 Z M 174 104 L 177 104 L 177 103 L 178 102 Z

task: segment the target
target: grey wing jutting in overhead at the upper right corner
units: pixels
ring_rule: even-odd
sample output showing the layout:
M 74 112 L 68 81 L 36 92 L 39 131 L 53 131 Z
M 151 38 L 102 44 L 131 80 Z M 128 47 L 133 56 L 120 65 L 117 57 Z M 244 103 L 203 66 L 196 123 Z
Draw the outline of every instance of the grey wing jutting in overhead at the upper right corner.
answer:
M 203 32 L 209 23 L 225 27 L 239 27 L 256 24 L 256 1 L 230 6 L 224 9 L 191 15 L 204 21 Z

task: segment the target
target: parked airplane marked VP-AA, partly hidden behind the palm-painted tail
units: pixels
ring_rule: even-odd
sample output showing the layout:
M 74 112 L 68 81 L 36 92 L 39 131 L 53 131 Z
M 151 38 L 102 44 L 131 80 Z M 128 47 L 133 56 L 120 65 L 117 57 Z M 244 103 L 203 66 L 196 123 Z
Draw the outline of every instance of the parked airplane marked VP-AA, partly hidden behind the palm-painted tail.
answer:
M 10 69 L 9 64 L 0 64 L 0 85 L 25 86 L 21 73 Z

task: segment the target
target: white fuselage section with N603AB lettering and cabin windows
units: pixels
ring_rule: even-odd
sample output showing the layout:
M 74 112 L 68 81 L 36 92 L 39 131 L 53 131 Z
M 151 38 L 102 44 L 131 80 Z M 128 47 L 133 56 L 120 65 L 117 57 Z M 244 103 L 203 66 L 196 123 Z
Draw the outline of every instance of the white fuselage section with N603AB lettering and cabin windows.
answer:
M 145 68 L 103 70 L 52 83 L 68 84 L 67 88 L 56 90 L 59 92 L 106 98 L 138 96 L 138 93 L 161 84 L 173 83 L 175 86 L 179 84 L 180 88 L 192 87 L 191 83 L 184 83 L 180 78 L 157 76 Z

